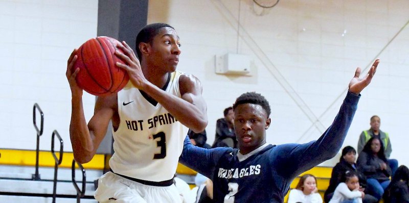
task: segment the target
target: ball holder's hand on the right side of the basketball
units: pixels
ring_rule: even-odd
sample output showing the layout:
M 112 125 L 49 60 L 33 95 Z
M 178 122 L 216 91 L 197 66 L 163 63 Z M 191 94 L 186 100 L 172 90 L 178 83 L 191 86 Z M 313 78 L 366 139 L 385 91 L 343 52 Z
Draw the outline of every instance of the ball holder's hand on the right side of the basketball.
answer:
M 117 62 L 117 66 L 125 69 L 128 72 L 129 80 L 136 88 L 143 89 L 143 84 L 145 84 L 147 80 L 144 76 L 144 73 L 142 72 L 141 64 L 137 56 L 135 56 L 132 48 L 129 47 L 129 45 L 125 41 L 122 41 L 122 44 L 118 44 L 117 47 L 120 48 L 123 53 L 117 50 L 115 52 L 115 55 L 117 55 L 120 59 L 122 59 L 122 61 L 126 63 L 123 64 Z

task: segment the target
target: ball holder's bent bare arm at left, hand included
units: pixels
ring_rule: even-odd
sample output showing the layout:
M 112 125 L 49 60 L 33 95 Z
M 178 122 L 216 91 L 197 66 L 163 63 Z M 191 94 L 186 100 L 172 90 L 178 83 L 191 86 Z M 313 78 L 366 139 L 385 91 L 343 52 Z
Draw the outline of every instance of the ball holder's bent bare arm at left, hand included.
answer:
M 95 107 L 95 114 L 87 125 L 82 105 L 83 90 L 78 87 L 75 81 L 75 77 L 79 71 L 78 67 L 74 67 L 75 61 L 78 58 L 76 53 L 77 49 L 74 49 L 68 59 L 67 70 L 65 73 L 70 83 L 72 94 L 70 139 L 75 160 L 79 163 L 87 163 L 94 157 L 99 144 L 105 136 L 106 128 L 113 115 L 113 111 L 108 106 L 111 103 L 107 101 L 107 98 L 99 97 Z M 111 100 L 115 100 L 116 102 L 116 95 L 112 97 L 115 98 Z M 98 128 L 96 128 L 96 126 L 98 126 Z

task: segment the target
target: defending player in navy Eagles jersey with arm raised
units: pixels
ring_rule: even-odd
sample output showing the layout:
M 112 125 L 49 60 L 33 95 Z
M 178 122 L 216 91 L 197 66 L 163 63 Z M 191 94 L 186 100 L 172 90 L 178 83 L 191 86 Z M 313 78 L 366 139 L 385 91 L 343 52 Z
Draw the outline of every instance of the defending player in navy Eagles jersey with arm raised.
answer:
M 283 202 L 294 177 L 336 155 L 355 114 L 359 93 L 371 82 L 378 63 L 373 63 L 363 79 L 359 79 L 360 68 L 356 69 L 339 113 L 316 141 L 267 144 L 270 106 L 262 95 L 247 92 L 233 105 L 239 149 L 203 149 L 186 138 L 179 162 L 213 181 L 215 202 Z

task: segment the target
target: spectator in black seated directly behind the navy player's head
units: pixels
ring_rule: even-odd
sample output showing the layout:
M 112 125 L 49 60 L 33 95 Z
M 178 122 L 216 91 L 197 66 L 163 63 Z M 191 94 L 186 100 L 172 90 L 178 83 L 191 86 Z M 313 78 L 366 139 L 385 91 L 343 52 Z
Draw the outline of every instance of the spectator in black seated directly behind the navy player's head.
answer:
M 237 138 L 236 134 L 234 133 L 233 107 L 224 109 L 223 114 L 224 118 L 220 118 L 216 122 L 216 136 L 212 148 L 237 148 Z

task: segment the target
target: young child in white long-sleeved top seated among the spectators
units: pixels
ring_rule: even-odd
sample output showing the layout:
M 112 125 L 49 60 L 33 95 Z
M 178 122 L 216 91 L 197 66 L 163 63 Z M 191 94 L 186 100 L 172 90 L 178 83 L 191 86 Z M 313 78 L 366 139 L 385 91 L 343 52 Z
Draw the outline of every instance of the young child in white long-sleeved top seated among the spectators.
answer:
M 365 193 L 360 190 L 358 174 L 347 171 L 343 179 L 344 182 L 336 186 L 329 203 L 362 203 Z

